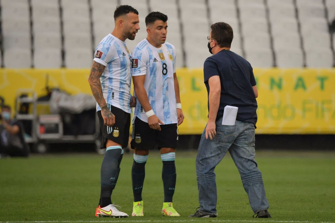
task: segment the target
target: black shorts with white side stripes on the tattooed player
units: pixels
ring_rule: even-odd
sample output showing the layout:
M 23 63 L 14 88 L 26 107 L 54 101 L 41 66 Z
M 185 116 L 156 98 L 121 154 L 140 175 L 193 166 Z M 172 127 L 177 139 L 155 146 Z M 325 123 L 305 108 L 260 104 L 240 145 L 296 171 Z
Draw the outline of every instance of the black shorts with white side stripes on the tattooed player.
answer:
M 101 116 L 101 111 L 97 111 L 102 133 L 100 148 L 106 148 L 107 139 L 121 144 L 122 147 L 125 148 L 129 142 L 130 114 L 110 104 L 107 104 L 107 106 L 115 115 L 115 124 L 112 127 L 106 126 Z

